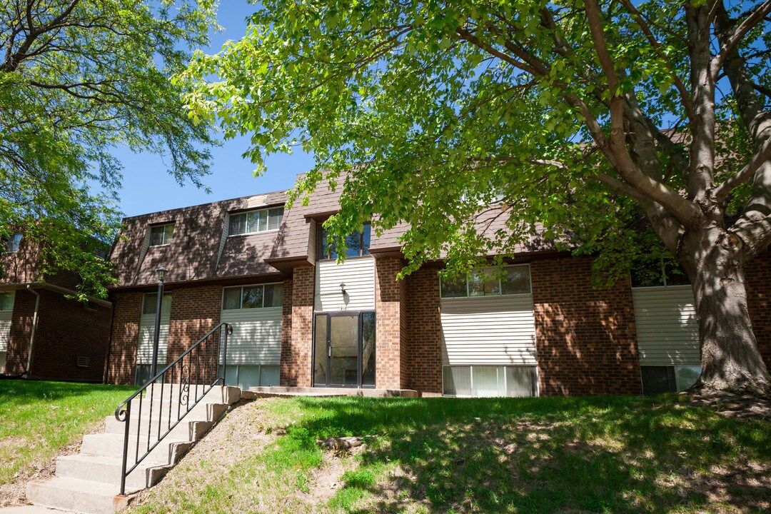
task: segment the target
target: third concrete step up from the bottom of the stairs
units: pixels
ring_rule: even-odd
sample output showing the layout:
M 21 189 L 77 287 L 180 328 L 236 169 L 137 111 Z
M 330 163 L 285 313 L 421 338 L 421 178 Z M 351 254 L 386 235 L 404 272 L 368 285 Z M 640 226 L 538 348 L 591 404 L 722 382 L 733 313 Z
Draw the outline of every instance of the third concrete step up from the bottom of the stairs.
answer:
M 157 441 L 157 438 L 150 438 L 150 446 Z M 149 455 L 141 462 L 153 465 L 176 464 L 179 459 L 187 452 L 194 443 L 191 441 L 182 441 L 180 439 L 163 438 L 158 445 L 153 448 Z M 147 439 L 140 439 L 139 457 L 147 449 Z M 133 465 L 136 462 L 136 438 L 129 439 L 129 451 L 127 462 Z M 80 453 L 85 455 L 103 455 L 105 457 L 123 457 L 123 435 L 122 434 L 87 434 L 83 436 L 83 443 L 80 446 Z

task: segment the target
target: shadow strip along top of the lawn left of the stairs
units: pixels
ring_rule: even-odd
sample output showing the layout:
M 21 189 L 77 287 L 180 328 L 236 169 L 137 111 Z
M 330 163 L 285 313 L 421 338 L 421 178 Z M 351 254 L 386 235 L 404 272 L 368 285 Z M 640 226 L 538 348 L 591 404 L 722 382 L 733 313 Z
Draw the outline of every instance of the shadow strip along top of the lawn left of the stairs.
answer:
M 0 398 L 5 405 L 25 405 L 40 400 L 56 401 L 98 392 L 125 391 L 128 397 L 136 388 L 125 385 L 82 384 L 36 380 L 0 380 Z M 117 407 L 117 405 L 116 405 Z

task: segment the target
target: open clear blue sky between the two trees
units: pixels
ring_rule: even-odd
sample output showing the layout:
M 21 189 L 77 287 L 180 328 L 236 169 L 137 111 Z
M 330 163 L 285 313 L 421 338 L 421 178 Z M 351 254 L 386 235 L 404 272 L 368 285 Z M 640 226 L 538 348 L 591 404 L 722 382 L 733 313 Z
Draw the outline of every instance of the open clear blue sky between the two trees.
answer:
M 224 32 L 211 35 L 211 46 L 207 52 L 217 52 L 227 39 L 240 39 L 246 32 L 244 20 L 255 9 L 256 6 L 248 5 L 245 0 L 222 0 L 217 21 Z M 164 166 L 160 156 L 116 149 L 114 155 L 123 163 L 120 209 L 126 216 L 135 216 L 156 210 L 285 190 L 294 185 L 298 173 L 313 166 L 312 157 L 300 151 L 290 156 L 274 155 L 268 158 L 267 173 L 254 177 L 254 165 L 241 158 L 247 146 L 248 137 L 243 137 L 226 141 L 223 146 L 212 150 L 212 173 L 204 178 L 204 183 L 211 188 L 210 194 L 190 183 L 178 186 L 166 173 L 167 166 Z

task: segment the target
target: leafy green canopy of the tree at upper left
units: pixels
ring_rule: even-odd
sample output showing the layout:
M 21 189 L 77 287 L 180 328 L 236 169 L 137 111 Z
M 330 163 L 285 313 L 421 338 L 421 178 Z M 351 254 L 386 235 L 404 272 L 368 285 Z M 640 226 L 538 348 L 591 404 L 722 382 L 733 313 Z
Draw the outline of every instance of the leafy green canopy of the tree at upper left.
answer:
M 42 245 L 45 269 L 106 294 L 120 225 L 116 146 L 164 156 L 200 186 L 210 126 L 170 76 L 207 43 L 214 2 L 8 0 L 0 7 L 0 230 Z

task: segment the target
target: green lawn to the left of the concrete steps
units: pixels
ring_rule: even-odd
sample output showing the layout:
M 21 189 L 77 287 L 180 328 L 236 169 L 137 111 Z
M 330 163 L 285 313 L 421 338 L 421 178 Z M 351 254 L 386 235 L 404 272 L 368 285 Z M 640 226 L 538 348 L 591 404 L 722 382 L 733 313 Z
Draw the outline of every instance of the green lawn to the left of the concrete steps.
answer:
M 0 380 L 0 485 L 24 479 L 99 420 L 115 411 L 133 387 Z

